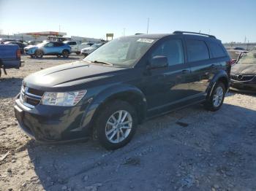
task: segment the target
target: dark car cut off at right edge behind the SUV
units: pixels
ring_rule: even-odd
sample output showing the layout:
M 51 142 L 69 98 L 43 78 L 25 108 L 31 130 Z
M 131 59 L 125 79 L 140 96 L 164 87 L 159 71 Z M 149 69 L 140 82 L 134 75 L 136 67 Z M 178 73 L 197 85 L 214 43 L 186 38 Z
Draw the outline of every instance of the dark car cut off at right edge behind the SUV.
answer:
M 233 90 L 256 93 L 256 51 L 241 55 L 231 68 L 231 84 Z

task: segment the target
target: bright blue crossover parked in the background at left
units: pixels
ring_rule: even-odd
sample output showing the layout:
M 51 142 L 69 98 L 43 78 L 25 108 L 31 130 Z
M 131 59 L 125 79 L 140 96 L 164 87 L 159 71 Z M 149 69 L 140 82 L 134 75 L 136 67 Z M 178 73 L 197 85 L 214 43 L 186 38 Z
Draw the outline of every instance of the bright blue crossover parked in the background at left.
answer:
M 26 55 L 31 57 L 42 58 L 43 55 L 57 55 L 57 57 L 68 58 L 71 53 L 71 47 L 63 42 L 42 42 L 36 46 L 24 48 Z

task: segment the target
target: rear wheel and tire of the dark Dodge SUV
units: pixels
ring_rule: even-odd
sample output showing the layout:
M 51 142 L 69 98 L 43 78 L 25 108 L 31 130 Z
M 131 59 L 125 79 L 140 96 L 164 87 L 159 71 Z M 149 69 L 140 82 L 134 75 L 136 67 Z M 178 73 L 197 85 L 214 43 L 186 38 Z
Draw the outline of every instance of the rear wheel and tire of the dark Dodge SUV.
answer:
M 226 88 L 222 82 L 217 82 L 212 90 L 211 95 L 208 96 L 206 103 L 204 104 L 205 109 L 211 112 L 219 110 L 222 106 L 225 98 Z

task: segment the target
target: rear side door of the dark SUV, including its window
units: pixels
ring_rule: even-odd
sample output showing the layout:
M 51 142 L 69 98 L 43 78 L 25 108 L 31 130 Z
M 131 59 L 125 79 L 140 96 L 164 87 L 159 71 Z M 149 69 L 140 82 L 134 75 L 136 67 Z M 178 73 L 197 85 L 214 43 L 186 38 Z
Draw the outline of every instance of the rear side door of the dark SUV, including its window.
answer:
M 192 82 L 189 85 L 190 92 L 194 96 L 204 98 L 209 82 L 214 75 L 214 69 L 217 66 L 210 61 L 210 52 L 203 38 L 186 37 L 186 47 L 187 61 L 192 72 Z

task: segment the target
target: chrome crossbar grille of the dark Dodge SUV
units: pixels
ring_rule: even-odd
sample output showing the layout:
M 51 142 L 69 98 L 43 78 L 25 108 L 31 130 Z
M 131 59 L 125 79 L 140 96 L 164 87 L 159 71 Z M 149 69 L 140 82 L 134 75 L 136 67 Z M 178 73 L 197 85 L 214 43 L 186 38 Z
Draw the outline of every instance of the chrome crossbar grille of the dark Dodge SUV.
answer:
M 40 104 L 43 94 L 44 92 L 41 90 L 22 86 L 20 90 L 20 102 L 25 106 L 34 108 L 34 106 Z

